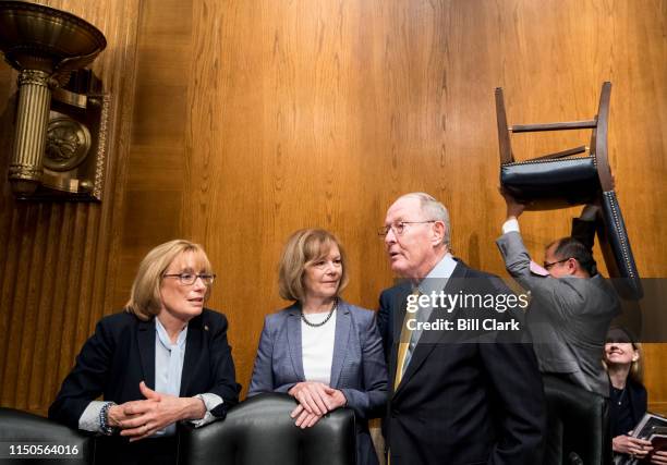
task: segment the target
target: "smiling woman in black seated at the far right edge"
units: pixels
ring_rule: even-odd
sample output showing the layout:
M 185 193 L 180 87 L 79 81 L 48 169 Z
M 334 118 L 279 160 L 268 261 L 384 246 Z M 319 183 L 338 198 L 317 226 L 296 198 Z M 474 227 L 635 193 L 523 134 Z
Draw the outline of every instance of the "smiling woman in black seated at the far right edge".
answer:
M 604 365 L 611 381 L 609 424 L 615 456 L 632 455 L 644 463 L 667 464 L 667 452 L 652 454 L 651 441 L 631 436 L 647 406 L 641 344 L 626 329 L 611 328 L 607 333 Z

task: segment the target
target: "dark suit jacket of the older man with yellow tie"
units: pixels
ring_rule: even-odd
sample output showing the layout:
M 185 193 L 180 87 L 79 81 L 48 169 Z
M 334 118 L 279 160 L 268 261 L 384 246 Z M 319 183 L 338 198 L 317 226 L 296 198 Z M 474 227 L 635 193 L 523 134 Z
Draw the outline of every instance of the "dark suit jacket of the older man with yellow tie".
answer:
M 498 278 L 459 261 L 445 291 L 468 292 L 466 283 L 474 283 L 474 293 L 510 292 Z M 384 291 L 378 314 L 389 360 L 385 428 L 391 465 L 541 463 L 545 401 L 530 343 L 489 342 L 502 338 L 493 333 L 469 333 L 462 342 L 457 332 L 444 332 L 441 339 L 429 332 L 430 341 L 422 341 L 423 333 L 393 392 L 409 292 L 400 284 Z M 434 310 L 429 320 L 436 316 Z

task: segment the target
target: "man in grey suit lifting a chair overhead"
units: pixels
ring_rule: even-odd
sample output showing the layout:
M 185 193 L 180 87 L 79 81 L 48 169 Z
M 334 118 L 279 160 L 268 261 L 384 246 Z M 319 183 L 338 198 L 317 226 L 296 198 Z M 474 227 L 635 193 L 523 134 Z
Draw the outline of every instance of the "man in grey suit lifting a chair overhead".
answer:
M 506 268 L 531 292 L 526 313 L 539 370 L 609 397 L 609 380 L 599 363 L 611 319 L 620 311 L 614 287 L 597 272 L 592 248 L 597 208 L 586 206 L 572 236 L 549 244 L 544 267 L 531 260 L 519 230 L 524 205 L 501 191 L 507 205 L 497 240 Z

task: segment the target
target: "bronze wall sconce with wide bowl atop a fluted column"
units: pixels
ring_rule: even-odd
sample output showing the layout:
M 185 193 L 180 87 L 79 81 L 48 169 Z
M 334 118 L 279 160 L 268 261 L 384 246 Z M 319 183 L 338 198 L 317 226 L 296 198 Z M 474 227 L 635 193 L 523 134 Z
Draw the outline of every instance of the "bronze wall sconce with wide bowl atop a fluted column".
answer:
M 95 166 L 97 161 L 84 163 L 92 146 L 90 131 L 86 125 L 89 122 L 81 115 L 78 122 L 64 123 L 62 120 L 68 113 L 64 106 L 76 100 L 76 107 L 96 113 L 93 125 L 106 129 L 106 121 L 100 121 L 100 115 L 106 114 L 105 109 L 100 110 L 99 103 L 94 106 L 95 109 L 87 108 L 88 99 L 98 102 L 101 95 L 96 93 L 96 99 L 90 98 L 88 91 L 76 94 L 81 91 L 78 88 L 60 88 L 68 85 L 73 72 L 92 63 L 106 46 L 107 40 L 100 30 L 71 13 L 26 1 L 0 0 L 0 50 L 4 60 L 19 71 L 19 105 L 9 181 L 20 198 L 49 197 L 46 194 L 34 195 L 43 185 L 72 194 L 92 193 L 93 180 L 86 178 L 89 171 L 86 167 Z M 52 90 L 68 96 L 60 100 L 62 103 L 56 112 L 51 105 Z M 73 114 L 80 113 L 78 110 Z M 53 119 L 60 122 L 53 125 L 52 121 L 49 122 Z M 106 140 L 106 133 L 104 136 Z M 49 152 L 46 152 L 47 140 Z M 104 155 L 106 145 L 94 145 L 97 152 Z M 69 164 L 71 172 L 68 175 L 56 172 L 64 171 L 62 167 L 68 167 L 66 162 L 56 163 L 56 169 L 51 166 L 49 175 L 45 175 L 45 152 L 49 157 L 53 150 L 58 151 L 56 158 L 60 161 L 76 155 L 76 162 Z M 82 173 L 85 179 L 80 180 Z M 95 173 L 93 178 L 97 179 L 99 174 Z M 99 195 L 93 196 L 99 199 Z

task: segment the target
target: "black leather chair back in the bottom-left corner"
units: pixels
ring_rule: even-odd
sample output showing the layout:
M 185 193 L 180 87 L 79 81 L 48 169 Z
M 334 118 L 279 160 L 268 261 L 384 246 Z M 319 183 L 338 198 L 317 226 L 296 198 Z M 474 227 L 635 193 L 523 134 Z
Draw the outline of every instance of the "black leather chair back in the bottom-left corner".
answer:
M 27 463 L 48 463 L 56 464 L 93 464 L 95 457 L 95 440 L 90 436 L 82 435 L 81 432 L 70 429 L 66 426 L 59 425 L 47 418 L 20 412 L 13 408 L 0 407 L 0 443 L 2 444 L 2 456 L 0 463 L 9 464 L 27 464 Z M 71 458 L 66 455 L 49 455 L 49 458 L 29 461 L 25 456 L 16 456 L 11 458 L 4 455 L 9 451 L 9 445 L 17 444 L 49 444 L 69 446 L 70 451 L 73 448 L 78 450 L 77 458 Z

